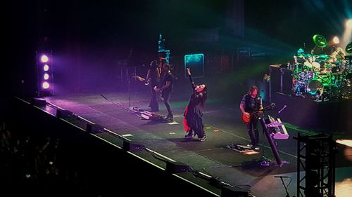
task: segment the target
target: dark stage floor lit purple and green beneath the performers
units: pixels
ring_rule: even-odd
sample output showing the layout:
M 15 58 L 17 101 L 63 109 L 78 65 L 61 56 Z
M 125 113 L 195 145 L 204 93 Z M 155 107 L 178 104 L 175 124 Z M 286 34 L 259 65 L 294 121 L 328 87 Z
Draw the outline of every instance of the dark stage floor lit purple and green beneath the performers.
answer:
M 106 100 L 102 95 L 111 101 Z M 260 160 L 263 156 L 271 158 L 272 161 L 275 161 L 275 158 L 268 145 L 268 140 L 265 137 L 263 139 L 259 123 L 260 151 L 257 154 L 246 155 L 226 148 L 227 145 L 232 143 L 246 145 L 250 142 L 246 125 L 241 122 L 239 101 L 228 105 L 223 104 L 221 100 L 216 98 L 209 98 L 203 116 L 208 140 L 199 142 L 196 137 L 194 137 L 194 140 L 184 139 L 182 115 L 189 100 L 189 95 L 175 95 L 170 102 L 174 113 L 173 123 L 142 120 L 139 116 L 127 110 L 130 106 L 148 109 L 149 93 L 147 92 L 132 91 L 129 95 L 129 93 L 91 91 L 56 95 L 44 99 L 89 121 L 103 125 L 104 128 L 111 130 L 113 133 L 123 135 L 138 144 L 143 144 L 145 147 L 163 154 L 163 156 L 186 163 L 194 170 L 201 170 L 208 175 L 218 177 L 232 186 L 241 185 L 240 187 L 243 189 L 250 189 L 251 193 L 257 197 L 285 196 L 286 193 L 281 180 L 274 176 L 291 177 L 288 191 L 291 196 L 296 196 L 297 142 L 293 137 L 297 136 L 298 132 L 311 133 L 311 131 L 297 129 L 294 125 L 287 124 L 289 139 L 277 140 L 277 142 L 280 156 L 290 163 L 282 167 L 263 167 L 252 161 Z M 158 113 L 165 115 L 166 110 L 160 100 L 159 107 L 161 110 Z M 115 141 L 112 135 L 106 135 L 105 133 L 97 135 L 108 142 L 114 143 Z M 339 145 L 336 168 L 337 196 L 344 196 L 343 193 L 352 192 L 352 174 L 346 173 L 348 171 L 352 172 L 351 152 L 352 147 Z M 146 151 L 137 151 L 134 154 L 155 165 L 163 163 L 153 158 Z M 180 176 L 220 195 L 218 188 L 201 181 L 201 178 L 193 177 L 189 173 L 182 173 Z M 288 184 L 289 179 L 285 179 L 285 183 Z

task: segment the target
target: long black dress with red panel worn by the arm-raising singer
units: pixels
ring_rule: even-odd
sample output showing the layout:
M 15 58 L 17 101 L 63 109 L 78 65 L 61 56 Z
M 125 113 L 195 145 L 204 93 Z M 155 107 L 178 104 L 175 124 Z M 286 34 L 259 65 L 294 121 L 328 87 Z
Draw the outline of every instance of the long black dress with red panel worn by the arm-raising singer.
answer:
M 187 135 L 197 135 L 199 138 L 205 137 L 204 124 L 203 124 L 203 97 L 206 95 L 206 91 L 197 93 L 194 88 L 194 81 L 189 75 L 189 81 L 191 81 L 192 95 L 189 99 L 189 103 L 184 111 L 184 130 L 188 132 Z

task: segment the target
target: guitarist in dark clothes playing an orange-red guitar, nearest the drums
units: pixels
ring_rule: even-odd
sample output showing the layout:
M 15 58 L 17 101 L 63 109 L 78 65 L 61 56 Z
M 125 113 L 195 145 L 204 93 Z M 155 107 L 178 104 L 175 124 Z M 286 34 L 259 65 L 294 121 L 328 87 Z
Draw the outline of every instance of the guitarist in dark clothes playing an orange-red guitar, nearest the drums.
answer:
M 263 114 L 263 111 L 258 110 L 263 109 L 263 105 L 260 97 L 258 97 L 257 86 L 252 86 L 249 92 L 244 95 L 241 104 L 239 104 L 239 109 L 241 109 L 242 114 L 244 114 L 246 118 L 251 118 L 251 121 L 247 123 L 247 131 L 251 138 L 251 144 L 248 144 L 247 147 L 259 150 L 258 115 Z M 251 113 L 255 111 L 258 111 L 258 114 L 251 115 Z

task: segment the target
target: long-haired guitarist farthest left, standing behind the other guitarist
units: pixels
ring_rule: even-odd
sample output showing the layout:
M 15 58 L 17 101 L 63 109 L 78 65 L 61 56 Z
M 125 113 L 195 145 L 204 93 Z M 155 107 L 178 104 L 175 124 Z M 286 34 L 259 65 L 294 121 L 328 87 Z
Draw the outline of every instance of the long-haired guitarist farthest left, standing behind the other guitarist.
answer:
M 158 100 L 156 99 L 156 91 L 154 87 L 158 86 L 160 81 L 161 71 L 158 67 L 158 62 L 153 60 L 149 64 L 148 72 L 146 73 L 146 80 L 148 80 L 149 85 L 151 87 L 151 102 L 149 103 L 149 107 L 151 107 L 151 111 L 159 111 Z

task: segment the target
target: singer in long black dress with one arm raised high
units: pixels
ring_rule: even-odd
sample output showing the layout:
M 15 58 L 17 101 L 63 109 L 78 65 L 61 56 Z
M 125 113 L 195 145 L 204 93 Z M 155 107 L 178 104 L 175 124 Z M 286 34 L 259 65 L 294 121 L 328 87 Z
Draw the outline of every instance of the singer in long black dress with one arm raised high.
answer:
M 187 74 L 191 82 L 193 93 L 184 111 L 183 124 L 184 130 L 187 132 L 187 135 L 184 137 L 191 139 L 194 135 L 197 135 L 199 140 L 204 142 L 206 141 L 206 133 L 203 124 L 203 108 L 208 95 L 207 86 L 204 84 L 196 86 L 191 77 L 189 68 L 187 68 Z

